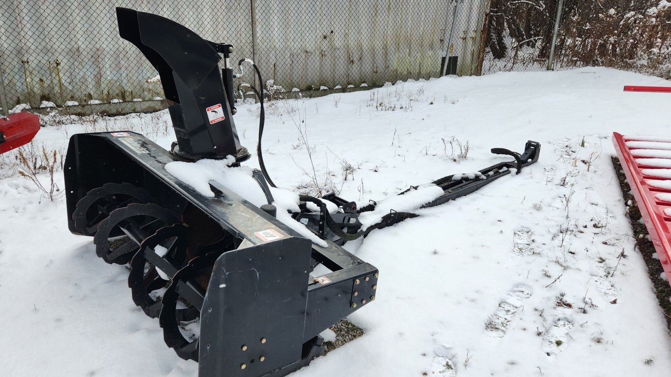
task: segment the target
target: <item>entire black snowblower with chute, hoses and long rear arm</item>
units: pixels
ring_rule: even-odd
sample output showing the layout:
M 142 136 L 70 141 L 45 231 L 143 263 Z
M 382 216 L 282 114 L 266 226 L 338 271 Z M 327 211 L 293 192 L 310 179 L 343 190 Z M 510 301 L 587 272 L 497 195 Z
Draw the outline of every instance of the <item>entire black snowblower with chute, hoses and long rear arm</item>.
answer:
M 93 236 L 105 262 L 130 263 L 134 302 L 158 317 L 178 356 L 199 362 L 200 377 L 285 376 L 321 356 L 319 333 L 376 296 L 378 270 L 340 246 L 417 216 L 385 202 L 437 206 L 512 169 L 520 173 L 539 156 L 539 143 L 528 141 L 521 154 L 492 149 L 513 161 L 448 175 L 379 204 L 357 208 L 328 194 L 323 199 L 337 211 L 311 196 L 285 208 L 273 198 L 261 153 L 264 98 L 251 86 L 262 111 L 261 169 L 248 177 L 262 192 L 255 204 L 231 190 L 233 182 L 178 178 L 203 163 L 240 166 L 250 157 L 232 117 L 233 80 L 242 76 L 229 62 L 233 47 L 150 13 L 117 8 L 117 19 L 121 37 L 160 74 L 177 141 L 166 151 L 123 130 L 72 136 L 64 169 L 68 227 Z M 240 60 L 241 72 L 244 63 L 263 82 L 251 60 Z M 313 275 L 319 265 L 331 272 Z M 199 336 L 185 335 L 189 326 Z

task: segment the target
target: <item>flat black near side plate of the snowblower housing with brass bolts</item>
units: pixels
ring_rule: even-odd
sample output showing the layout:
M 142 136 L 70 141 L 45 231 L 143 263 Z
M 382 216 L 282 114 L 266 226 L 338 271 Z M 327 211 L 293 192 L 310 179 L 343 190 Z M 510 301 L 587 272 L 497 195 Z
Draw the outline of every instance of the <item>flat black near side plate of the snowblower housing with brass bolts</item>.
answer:
M 201 319 L 199 376 L 262 376 L 301 360 L 309 240 L 280 239 L 217 260 Z

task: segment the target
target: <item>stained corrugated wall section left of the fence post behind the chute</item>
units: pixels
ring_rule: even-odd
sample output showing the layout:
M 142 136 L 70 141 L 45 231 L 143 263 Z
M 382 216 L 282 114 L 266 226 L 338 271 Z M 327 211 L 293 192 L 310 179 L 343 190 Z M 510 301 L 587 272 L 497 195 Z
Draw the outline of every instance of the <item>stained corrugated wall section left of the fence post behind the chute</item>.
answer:
M 162 97 L 156 70 L 121 40 L 115 7 L 164 15 L 251 55 L 249 2 L 16 1 L 0 3 L 0 78 L 9 106 L 42 100 L 110 102 Z

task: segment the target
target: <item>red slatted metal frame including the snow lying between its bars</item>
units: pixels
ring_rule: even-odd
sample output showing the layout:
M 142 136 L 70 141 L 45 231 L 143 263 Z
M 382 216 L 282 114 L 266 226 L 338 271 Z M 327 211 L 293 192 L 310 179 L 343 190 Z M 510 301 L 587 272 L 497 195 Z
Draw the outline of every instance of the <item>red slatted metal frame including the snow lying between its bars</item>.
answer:
M 613 145 L 671 284 L 671 137 L 613 133 Z

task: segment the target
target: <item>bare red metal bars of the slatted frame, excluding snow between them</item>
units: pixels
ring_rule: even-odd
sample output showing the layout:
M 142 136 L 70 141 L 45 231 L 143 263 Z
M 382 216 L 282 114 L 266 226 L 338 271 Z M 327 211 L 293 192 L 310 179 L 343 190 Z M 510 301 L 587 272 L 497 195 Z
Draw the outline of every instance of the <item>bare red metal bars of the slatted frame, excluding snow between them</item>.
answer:
M 660 262 L 662 262 L 662 268 L 671 285 L 671 216 L 664 213 L 664 210 L 671 209 L 671 202 L 664 202 L 655 198 L 656 194 L 671 194 L 671 190 L 653 187 L 646 181 L 646 179 L 655 179 L 669 181 L 671 183 L 671 179 L 644 174 L 643 169 L 663 168 L 650 167 L 637 163 L 636 157 L 633 157 L 631 154 L 631 150 L 638 148 L 630 148 L 627 145 L 627 141 L 650 141 L 650 139 L 646 140 L 644 137 L 637 139 L 635 136 L 623 136 L 616 132 L 613 133 L 613 145 L 615 145 L 617 158 L 619 158 L 620 163 L 622 163 L 623 170 L 627 176 L 627 181 L 629 181 L 629 187 L 631 187 L 631 192 L 634 198 L 636 198 L 636 203 L 641 211 L 641 216 L 643 216 L 643 221 L 646 223 L 646 228 L 648 228 L 650 239 L 655 245 L 657 255 L 660 258 Z M 669 145 L 671 145 L 671 143 L 669 143 Z M 668 160 L 671 161 L 671 159 Z

